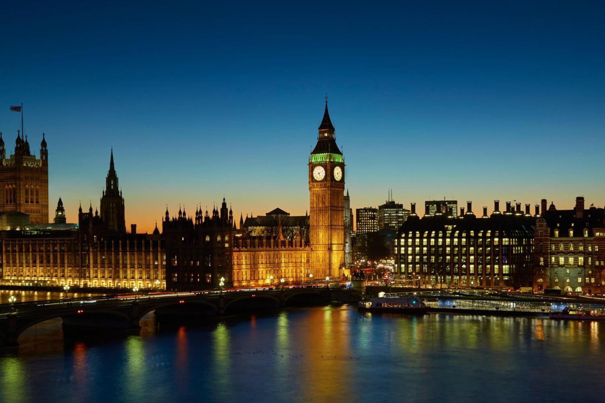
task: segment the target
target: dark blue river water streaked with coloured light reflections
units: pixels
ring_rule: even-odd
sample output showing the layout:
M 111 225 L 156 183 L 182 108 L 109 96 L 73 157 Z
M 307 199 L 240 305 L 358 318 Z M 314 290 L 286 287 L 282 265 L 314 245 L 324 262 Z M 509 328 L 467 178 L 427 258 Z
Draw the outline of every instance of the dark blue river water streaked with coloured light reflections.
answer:
M 60 319 L 0 350 L 0 401 L 603 401 L 605 324 L 350 305 L 64 339 Z

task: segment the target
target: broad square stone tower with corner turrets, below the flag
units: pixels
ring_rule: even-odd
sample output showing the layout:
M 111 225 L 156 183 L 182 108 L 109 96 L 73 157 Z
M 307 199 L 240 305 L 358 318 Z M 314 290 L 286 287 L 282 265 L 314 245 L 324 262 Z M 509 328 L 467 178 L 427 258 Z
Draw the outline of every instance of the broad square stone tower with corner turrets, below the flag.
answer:
M 6 157 L 0 133 L 1 210 L 30 216 L 30 223 L 48 223 L 48 149 L 42 133 L 40 157 L 30 152 L 27 136 L 17 134 L 15 153 Z

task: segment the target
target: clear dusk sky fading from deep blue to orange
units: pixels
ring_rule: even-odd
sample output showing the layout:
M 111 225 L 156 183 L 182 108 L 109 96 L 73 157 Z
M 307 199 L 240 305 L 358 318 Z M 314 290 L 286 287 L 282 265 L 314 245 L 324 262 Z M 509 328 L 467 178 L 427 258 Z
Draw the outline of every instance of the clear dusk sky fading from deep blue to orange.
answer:
M 5 2 L 8 151 L 23 102 L 70 221 L 99 204 L 111 146 L 144 230 L 166 203 L 193 213 L 223 194 L 238 217 L 304 214 L 328 93 L 353 208 L 388 188 L 476 211 L 605 203 L 605 3 L 256 3 Z

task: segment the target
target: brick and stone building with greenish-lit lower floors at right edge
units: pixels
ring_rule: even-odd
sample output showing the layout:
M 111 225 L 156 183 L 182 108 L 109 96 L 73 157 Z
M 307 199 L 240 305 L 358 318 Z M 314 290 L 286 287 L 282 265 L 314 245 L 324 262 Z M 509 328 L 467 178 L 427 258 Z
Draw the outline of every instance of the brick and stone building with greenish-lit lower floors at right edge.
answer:
M 534 290 L 603 293 L 605 274 L 605 210 L 584 208 L 577 197 L 575 208 L 557 210 L 541 201 L 535 229 Z

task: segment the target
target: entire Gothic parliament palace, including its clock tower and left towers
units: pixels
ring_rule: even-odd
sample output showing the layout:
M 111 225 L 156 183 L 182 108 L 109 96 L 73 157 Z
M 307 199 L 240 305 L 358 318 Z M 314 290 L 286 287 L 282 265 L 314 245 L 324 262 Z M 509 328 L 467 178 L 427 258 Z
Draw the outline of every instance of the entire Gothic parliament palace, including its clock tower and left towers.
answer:
M 70 224 L 59 198 L 48 220 L 48 149 L 40 157 L 19 134 L 5 157 L 0 134 L 0 281 L 4 284 L 134 287 L 201 290 L 227 286 L 304 283 L 336 277 L 345 269 L 345 164 L 336 145 L 327 101 L 309 156 L 309 213 L 293 216 L 275 208 L 266 215 L 234 218 L 223 198 L 212 212 L 166 208 L 160 228 L 126 231 L 125 199 L 113 149 L 99 208 L 79 208 Z

